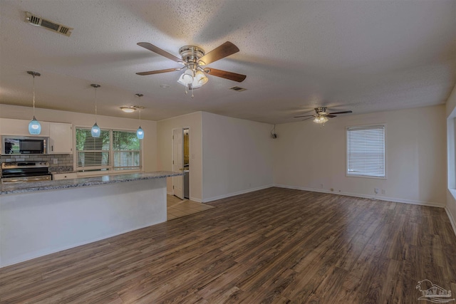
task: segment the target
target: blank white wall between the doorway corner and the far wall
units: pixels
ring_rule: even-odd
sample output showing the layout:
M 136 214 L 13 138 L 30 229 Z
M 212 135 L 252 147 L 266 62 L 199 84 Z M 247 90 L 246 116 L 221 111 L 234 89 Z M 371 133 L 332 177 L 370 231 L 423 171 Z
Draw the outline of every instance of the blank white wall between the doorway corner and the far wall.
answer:
M 272 127 L 202 112 L 204 202 L 272 186 Z

